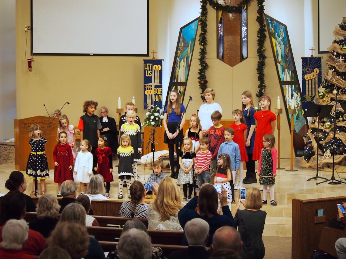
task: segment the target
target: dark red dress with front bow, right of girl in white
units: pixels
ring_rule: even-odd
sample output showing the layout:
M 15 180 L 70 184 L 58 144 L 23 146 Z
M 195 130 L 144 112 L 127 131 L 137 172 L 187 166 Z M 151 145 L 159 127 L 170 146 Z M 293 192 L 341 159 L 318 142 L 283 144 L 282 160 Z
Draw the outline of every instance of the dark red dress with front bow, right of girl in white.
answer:
M 101 174 L 105 183 L 113 182 L 113 174 L 109 171 L 112 168 L 112 150 L 110 147 L 97 148 L 95 156 L 97 156 L 97 173 Z

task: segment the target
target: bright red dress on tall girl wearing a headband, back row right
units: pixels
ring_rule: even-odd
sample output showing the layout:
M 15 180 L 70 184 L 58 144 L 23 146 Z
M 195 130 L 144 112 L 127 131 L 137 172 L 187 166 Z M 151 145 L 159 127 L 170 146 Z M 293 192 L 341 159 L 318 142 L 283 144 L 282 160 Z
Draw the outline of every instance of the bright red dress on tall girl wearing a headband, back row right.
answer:
M 254 114 L 257 120 L 255 146 L 252 153 L 252 159 L 260 159 L 261 150 L 263 146 L 263 136 L 272 133 L 272 122 L 276 121 L 276 115 L 271 111 L 258 111 Z

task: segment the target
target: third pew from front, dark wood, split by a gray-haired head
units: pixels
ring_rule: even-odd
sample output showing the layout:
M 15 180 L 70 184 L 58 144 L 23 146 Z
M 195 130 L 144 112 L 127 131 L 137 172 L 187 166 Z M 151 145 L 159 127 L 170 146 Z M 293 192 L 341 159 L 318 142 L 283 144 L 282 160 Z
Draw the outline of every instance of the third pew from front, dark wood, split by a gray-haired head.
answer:
M 122 228 L 87 227 L 88 233 L 99 241 L 114 241 L 119 238 Z M 180 245 L 183 240 L 183 231 L 148 230 L 152 243 Z

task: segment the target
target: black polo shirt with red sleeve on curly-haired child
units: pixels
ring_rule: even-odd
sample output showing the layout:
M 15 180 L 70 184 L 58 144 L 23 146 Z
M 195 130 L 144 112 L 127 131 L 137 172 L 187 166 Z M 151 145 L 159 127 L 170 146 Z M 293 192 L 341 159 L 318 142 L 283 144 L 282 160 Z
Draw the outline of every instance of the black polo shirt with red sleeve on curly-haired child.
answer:
M 102 128 L 99 117 L 85 113 L 79 118 L 78 129 L 83 131 L 83 139 L 89 140 L 92 147 L 97 147 L 97 130 Z

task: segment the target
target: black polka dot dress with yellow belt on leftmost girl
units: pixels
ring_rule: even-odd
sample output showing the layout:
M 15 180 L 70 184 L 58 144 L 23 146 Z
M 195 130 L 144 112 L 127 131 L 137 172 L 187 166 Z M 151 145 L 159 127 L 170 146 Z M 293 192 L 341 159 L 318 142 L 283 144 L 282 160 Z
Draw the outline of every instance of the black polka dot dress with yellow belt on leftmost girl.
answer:
M 31 152 L 26 165 L 26 174 L 30 179 L 35 179 L 35 174 L 37 179 L 44 180 L 49 178 L 48 161 L 45 154 L 46 143 L 47 140 L 44 137 L 39 140 L 31 138 L 29 141 Z

